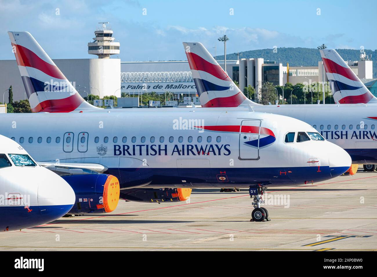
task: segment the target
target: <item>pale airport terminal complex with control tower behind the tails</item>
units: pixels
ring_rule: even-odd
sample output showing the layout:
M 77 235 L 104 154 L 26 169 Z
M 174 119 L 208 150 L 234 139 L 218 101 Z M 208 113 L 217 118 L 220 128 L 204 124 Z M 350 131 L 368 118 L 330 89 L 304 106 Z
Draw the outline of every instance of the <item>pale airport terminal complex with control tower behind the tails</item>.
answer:
M 110 58 L 120 53 L 120 43 L 112 37 L 113 31 L 101 22 L 96 29 L 93 42 L 88 43 L 88 54 L 98 58 L 53 60 L 70 82 L 74 82 L 81 96 L 92 93 L 101 98 L 105 95 L 121 96 L 121 92 L 137 96 L 147 92 L 170 93 L 175 100 L 184 96 L 196 96 L 196 87 L 187 61 L 124 61 Z M 52 57 L 53 58 L 53 57 Z M 218 61 L 224 68 L 224 61 Z M 359 61 L 348 61 L 349 67 L 363 82 L 373 80 L 372 61 L 360 57 Z M 264 58 L 240 58 L 227 61 L 227 73 L 243 88 L 251 85 L 260 92 L 262 84 L 271 82 L 283 86 L 322 82 L 322 61 L 317 66 L 289 66 Z M 20 72 L 15 60 L 0 61 L 1 92 L 7 99 L 7 89 L 12 85 L 14 100 L 26 98 Z M 325 74 L 325 81 L 327 81 Z M 242 89 L 241 89 L 242 90 Z

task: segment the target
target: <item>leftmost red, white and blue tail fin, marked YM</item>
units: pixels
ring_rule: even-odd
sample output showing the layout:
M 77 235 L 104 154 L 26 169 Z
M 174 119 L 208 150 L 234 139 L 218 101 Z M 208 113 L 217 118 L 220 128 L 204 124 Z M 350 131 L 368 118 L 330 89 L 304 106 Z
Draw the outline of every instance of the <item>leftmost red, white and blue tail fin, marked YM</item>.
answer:
M 8 32 L 32 112 L 80 112 L 87 103 L 29 32 Z

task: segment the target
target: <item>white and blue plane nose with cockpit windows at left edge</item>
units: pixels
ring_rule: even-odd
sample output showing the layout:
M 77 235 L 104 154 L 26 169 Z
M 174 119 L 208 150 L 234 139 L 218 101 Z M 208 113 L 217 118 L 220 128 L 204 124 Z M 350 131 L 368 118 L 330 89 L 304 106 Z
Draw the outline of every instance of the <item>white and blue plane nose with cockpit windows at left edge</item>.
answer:
M 75 193 L 17 142 L 0 135 L 0 231 L 31 228 L 66 214 Z

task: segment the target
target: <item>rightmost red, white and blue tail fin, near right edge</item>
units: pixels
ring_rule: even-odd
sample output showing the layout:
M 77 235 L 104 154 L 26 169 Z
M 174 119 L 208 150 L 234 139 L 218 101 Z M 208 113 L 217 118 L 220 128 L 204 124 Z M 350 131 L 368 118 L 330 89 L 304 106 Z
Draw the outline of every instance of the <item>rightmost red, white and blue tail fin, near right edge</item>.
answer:
M 340 104 L 377 103 L 377 98 L 334 49 L 321 49 L 320 53 L 327 78 L 332 84 L 335 102 Z

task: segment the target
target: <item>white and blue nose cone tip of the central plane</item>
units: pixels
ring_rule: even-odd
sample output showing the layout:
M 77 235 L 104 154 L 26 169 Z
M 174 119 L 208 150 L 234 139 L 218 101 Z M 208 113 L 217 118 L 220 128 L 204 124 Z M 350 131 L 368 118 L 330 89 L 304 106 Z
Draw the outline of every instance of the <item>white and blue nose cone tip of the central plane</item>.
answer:
M 351 167 L 352 160 L 348 153 L 337 145 L 331 145 L 329 156 L 329 169 L 331 177 L 337 177 L 345 173 Z

